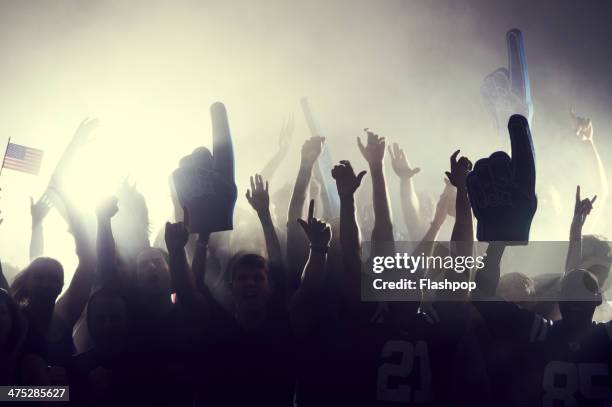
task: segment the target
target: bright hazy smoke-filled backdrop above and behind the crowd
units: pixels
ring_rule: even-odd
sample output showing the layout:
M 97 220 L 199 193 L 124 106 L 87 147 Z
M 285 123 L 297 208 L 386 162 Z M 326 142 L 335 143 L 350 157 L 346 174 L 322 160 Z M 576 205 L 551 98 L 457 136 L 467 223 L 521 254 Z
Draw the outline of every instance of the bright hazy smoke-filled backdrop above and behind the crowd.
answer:
M 152 239 L 171 217 L 167 177 L 178 159 L 211 145 L 208 108 L 215 101 L 229 114 L 239 206 L 246 205 L 248 176 L 276 151 L 291 114 L 293 144 L 271 188 L 297 174 L 309 136 L 302 96 L 334 160 L 365 167 L 355 137 L 370 127 L 401 143 L 422 168 L 417 188 L 436 196 L 452 151 L 462 148 L 475 160 L 505 145 L 480 86 L 506 64 L 505 32 L 515 27 L 524 33 L 532 81 L 538 190 L 560 205 L 558 216 L 536 215 L 534 236 L 566 239 L 576 183 L 597 185 L 592 172 L 573 174 L 579 148 L 570 106 L 593 119 L 604 163 L 612 152 L 610 25 L 598 20 L 609 14 L 605 2 L 588 11 L 579 2 L 532 3 L 2 1 L 0 145 L 10 136 L 45 156 L 37 177 L 0 176 L 0 256 L 27 265 L 29 197 L 44 191 L 85 117 L 101 125 L 72 175 L 79 206 L 93 211 L 129 176 L 147 198 Z M 388 179 L 399 213 L 390 170 Z M 612 234 L 610 222 L 594 226 Z M 70 274 L 76 258 L 55 211 L 45 221 L 45 243 L 45 254 Z

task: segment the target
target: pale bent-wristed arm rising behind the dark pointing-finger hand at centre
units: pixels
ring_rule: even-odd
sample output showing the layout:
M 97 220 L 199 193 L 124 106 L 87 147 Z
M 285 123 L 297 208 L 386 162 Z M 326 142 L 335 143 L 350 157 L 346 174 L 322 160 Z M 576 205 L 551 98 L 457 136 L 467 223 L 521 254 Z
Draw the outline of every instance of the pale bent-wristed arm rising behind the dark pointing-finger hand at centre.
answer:
M 302 146 L 300 170 L 293 187 L 287 217 L 287 265 L 289 267 L 290 288 L 297 288 L 308 256 L 308 242 L 296 220 L 304 216 L 304 204 L 312 177 L 312 169 L 321 154 L 324 143 L 325 138 L 323 137 L 311 137 Z

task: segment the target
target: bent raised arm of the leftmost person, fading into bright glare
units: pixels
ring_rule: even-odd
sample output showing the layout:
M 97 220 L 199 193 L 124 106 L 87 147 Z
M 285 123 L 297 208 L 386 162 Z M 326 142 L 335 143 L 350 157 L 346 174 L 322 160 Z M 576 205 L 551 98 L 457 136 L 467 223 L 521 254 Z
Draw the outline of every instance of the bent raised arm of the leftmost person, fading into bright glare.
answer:
M 76 254 L 79 259 L 76 271 L 66 292 L 58 300 L 55 310 L 71 328 L 79 319 L 94 281 L 96 256 L 93 242 L 87 236 L 85 225 L 72 205 L 64 199 L 69 219 L 70 233 L 74 237 Z

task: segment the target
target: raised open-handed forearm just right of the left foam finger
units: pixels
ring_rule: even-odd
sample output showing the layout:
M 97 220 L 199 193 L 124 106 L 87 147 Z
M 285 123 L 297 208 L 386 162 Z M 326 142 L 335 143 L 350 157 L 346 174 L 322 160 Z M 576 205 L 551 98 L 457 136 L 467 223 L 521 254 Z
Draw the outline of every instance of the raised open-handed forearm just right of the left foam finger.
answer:
M 257 212 L 261 227 L 263 228 L 264 237 L 266 239 L 266 248 L 268 251 L 268 260 L 276 265 L 282 265 L 283 259 L 281 254 L 280 241 L 272 222 L 270 214 L 270 195 L 268 193 L 268 181 L 265 183 L 261 175 L 256 174 L 255 178 L 251 177 L 251 189 L 247 190 L 246 199 L 251 204 L 251 207 Z

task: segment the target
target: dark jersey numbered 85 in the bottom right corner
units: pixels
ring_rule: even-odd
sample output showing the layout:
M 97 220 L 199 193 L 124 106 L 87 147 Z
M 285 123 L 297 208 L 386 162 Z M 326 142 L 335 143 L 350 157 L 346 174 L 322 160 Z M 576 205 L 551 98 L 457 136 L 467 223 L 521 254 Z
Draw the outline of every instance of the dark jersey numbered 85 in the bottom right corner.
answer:
M 580 337 L 506 302 L 478 305 L 512 381 L 500 395 L 517 406 L 612 405 L 612 325 L 593 324 Z M 501 353 L 498 351 L 498 353 Z

